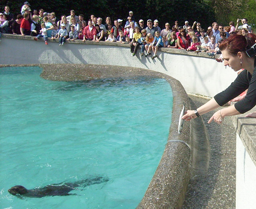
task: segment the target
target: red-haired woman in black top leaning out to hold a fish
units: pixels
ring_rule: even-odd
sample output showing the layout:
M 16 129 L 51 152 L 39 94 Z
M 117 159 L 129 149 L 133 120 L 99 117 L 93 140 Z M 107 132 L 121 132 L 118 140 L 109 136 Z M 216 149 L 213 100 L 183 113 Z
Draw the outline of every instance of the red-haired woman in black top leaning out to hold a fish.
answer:
M 243 35 L 232 35 L 224 40 L 219 48 L 223 55 L 224 66 L 231 67 L 234 71 L 245 68 L 235 79 L 235 81 L 224 91 L 215 95 L 209 102 L 196 110 L 187 110 L 182 119 L 190 121 L 204 113 L 223 106 L 228 101 L 234 99 L 243 91 L 248 89 L 245 98 L 235 105 L 218 110 L 213 114 L 208 123 L 215 121 L 221 124 L 224 117 L 243 114 L 256 105 L 256 56 L 249 56 L 246 53 L 256 42 L 256 35 L 249 33 Z M 256 51 L 255 51 L 256 52 Z M 251 114 L 250 114 L 251 117 Z

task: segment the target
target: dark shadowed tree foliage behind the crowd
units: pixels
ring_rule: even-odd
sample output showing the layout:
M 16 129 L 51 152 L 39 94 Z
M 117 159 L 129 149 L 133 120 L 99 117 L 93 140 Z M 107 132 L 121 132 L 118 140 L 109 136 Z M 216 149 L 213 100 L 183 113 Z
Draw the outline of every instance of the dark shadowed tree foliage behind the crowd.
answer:
M 158 19 L 160 27 L 164 28 L 166 22 L 174 25 L 175 20 L 179 20 L 180 25 L 184 21 L 189 21 L 190 25 L 194 21 L 200 22 L 204 28 L 211 25 L 215 20 L 213 8 L 210 7 L 209 0 L 28 0 L 31 9 L 44 9 L 47 12 L 54 11 L 57 17 L 62 14 L 69 15 L 70 10 L 74 9 L 76 15 L 84 14 L 85 20 L 94 14 L 96 17 L 102 17 L 103 23 L 107 16 L 110 16 L 112 22 L 114 19 L 124 19 L 126 21 L 128 12 L 132 10 L 137 21 L 143 19 Z M 24 0 L 1 0 L 0 9 L 3 11 L 4 6 L 8 5 L 10 11 L 15 14 L 20 13 Z

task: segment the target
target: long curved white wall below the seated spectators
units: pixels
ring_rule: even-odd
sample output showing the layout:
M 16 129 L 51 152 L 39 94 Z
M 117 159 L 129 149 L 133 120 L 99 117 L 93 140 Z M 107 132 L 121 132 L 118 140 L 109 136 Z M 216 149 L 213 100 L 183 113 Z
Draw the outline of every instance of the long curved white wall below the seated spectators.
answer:
M 158 52 L 158 58 L 131 56 L 129 47 L 71 44 L 2 38 L 0 64 L 76 63 L 131 66 L 165 73 L 179 80 L 188 93 L 209 97 L 224 90 L 237 74 L 212 58 Z M 11 51 L 11 53 L 10 53 Z M 177 51 L 181 51 L 177 49 Z M 191 52 L 193 53 L 193 52 Z

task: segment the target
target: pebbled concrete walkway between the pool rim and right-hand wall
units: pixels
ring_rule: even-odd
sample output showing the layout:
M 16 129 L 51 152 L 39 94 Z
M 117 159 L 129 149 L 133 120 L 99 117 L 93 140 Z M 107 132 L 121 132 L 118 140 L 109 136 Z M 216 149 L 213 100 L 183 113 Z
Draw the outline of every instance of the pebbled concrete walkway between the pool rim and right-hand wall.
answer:
M 208 101 L 195 96 L 189 97 L 197 106 Z M 190 180 L 182 209 L 235 208 L 236 130 L 231 117 L 226 117 L 222 125 L 214 122 L 207 124 L 215 111 L 202 116 L 211 149 L 209 170 Z

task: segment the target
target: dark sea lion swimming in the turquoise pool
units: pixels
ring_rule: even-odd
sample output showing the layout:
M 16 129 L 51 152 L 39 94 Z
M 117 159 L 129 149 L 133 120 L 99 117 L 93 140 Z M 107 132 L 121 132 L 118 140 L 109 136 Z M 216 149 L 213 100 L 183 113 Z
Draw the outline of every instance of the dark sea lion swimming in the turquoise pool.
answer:
M 59 184 L 49 184 L 43 188 L 26 189 L 24 186 L 16 185 L 8 189 L 8 192 L 12 195 L 21 195 L 23 197 L 29 198 L 42 198 L 46 196 L 66 196 L 75 195 L 69 194 L 70 191 L 76 189 L 76 187 L 89 186 L 92 184 L 99 184 L 107 182 L 108 178 L 105 177 L 94 177 L 88 178 L 81 181 L 76 181 L 74 183 L 59 183 Z

